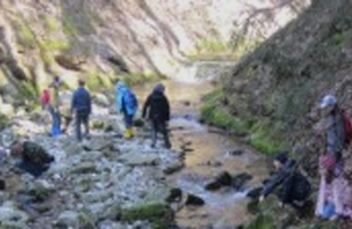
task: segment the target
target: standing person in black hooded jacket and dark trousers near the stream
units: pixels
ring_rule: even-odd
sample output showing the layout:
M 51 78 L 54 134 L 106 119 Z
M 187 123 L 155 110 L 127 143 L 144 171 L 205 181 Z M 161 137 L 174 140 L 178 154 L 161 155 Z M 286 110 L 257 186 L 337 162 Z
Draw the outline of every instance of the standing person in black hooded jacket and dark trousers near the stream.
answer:
M 144 103 L 142 117 L 147 118 L 151 122 L 152 143 L 151 147 L 155 147 L 157 133 L 163 134 L 165 148 L 171 148 L 168 136 L 168 121 L 170 120 L 170 105 L 168 98 L 164 95 L 165 86 L 158 84 L 153 92 L 148 96 Z

